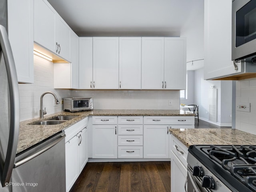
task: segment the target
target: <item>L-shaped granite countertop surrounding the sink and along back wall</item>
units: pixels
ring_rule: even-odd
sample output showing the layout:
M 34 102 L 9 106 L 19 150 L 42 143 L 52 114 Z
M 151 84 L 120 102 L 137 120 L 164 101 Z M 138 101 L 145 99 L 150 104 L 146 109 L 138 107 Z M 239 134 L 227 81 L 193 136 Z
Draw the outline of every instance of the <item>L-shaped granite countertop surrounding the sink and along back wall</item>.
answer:
M 50 118 L 60 115 L 78 117 L 57 125 L 31 125 L 31 123 L 42 121 L 39 117 L 20 122 L 17 154 L 38 142 L 65 130 L 87 116 L 194 116 L 194 114 L 186 114 L 186 112 L 182 110 L 92 110 L 75 113 L 58 112 L 45 115 L 43 120 L 49 120 Z

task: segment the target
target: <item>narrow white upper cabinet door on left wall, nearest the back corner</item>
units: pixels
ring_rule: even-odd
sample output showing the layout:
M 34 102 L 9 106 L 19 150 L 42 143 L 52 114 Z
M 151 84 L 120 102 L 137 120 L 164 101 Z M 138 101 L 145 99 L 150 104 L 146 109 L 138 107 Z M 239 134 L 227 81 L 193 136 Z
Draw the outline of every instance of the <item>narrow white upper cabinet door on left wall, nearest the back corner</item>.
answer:
M 71 88 L 79 88 L 79 63 L 78 63 L 79 38 L 75 32 L 70 33 L 70 61 L 71 63 Z

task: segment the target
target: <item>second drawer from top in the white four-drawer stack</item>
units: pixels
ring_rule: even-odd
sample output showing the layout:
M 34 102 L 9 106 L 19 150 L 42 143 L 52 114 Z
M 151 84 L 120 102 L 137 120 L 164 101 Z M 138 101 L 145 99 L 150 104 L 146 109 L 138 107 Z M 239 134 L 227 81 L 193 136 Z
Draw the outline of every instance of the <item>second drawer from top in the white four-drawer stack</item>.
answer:
M 118 125 L 118 135 L 143 135 L 143 125 Z

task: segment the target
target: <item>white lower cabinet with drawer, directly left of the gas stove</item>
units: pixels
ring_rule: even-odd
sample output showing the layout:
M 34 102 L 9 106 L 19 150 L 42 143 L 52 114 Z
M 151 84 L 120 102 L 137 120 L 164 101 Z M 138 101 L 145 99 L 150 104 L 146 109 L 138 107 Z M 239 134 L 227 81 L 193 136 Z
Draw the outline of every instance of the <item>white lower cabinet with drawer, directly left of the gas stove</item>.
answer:
M 171 192 L 186 192 L 188 148 L 170 134 Z

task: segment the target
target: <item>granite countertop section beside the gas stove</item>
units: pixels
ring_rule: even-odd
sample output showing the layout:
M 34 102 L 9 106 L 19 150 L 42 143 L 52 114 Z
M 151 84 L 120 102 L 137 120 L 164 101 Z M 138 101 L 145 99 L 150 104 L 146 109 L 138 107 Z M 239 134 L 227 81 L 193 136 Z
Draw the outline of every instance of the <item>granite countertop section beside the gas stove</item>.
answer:
M 256 135 L 234 129 L 170 129 L 184 145 L 256 145 Z

